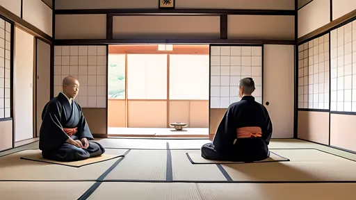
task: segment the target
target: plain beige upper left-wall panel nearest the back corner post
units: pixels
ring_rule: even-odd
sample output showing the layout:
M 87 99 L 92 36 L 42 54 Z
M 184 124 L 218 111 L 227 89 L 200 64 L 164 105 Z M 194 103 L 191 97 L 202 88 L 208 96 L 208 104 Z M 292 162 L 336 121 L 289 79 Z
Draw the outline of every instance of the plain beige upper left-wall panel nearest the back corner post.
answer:
M 13 1 L 13 0 L 11 0 Z M 23 1 L 22 18 L 52 36 L 52 9 L 41 0 Z

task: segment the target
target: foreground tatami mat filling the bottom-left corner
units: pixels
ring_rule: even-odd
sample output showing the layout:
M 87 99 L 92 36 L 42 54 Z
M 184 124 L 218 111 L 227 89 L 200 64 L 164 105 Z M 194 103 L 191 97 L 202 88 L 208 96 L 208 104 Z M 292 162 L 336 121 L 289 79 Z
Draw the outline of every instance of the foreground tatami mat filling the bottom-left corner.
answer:
M 0 182 L 0 199 L 74 200 L 94 182 Z

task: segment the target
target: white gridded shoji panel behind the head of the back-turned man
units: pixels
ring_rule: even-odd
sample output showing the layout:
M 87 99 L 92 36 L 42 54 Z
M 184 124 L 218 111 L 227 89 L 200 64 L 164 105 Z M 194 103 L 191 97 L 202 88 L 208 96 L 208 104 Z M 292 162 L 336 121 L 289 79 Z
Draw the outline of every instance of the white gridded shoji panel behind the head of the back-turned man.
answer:
M 262 103 L 262 47 L 211 46 L 210 56 L 210 108 L 240 101 L 237 83 L 245 77 L 254 79 L 252 95 Z

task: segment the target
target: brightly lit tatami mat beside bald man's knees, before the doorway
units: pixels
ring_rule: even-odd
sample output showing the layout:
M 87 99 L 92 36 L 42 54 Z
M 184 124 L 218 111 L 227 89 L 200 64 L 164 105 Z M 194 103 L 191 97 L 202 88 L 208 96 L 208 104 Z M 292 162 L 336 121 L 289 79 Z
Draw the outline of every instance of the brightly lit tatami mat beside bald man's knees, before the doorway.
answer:
M 105 148 L 124 148 L 124 149 L 167 149 L 165 140 L 151 139 L 98 139 L 99 144 Z

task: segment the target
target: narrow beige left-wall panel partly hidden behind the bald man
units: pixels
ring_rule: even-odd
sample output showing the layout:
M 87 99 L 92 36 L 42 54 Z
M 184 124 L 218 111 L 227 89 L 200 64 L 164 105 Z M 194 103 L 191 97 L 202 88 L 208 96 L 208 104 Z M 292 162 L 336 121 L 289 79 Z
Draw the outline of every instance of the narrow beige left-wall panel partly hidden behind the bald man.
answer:
M 42 40 L 37 39 L 37 80 L 36 80 L 36 124 L 37 135 L 40 133 L 40 127 L 42 124 L 42 110 L 46 103 L 49 101 L 51 92 L 51 46 Z

